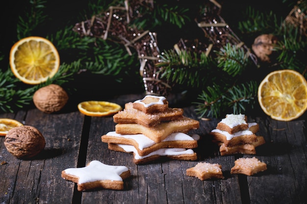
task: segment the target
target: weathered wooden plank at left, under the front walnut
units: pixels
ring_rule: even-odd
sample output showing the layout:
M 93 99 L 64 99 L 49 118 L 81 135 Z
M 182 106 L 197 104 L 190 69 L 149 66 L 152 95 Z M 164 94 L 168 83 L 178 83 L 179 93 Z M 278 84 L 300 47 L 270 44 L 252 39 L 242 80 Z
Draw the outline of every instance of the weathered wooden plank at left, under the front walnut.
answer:
M 72 202 L 75 184 L 64 181 L 61 171 L 77 165 L 82 121 L 78 112 L 46 114 L 37 109 L 27 112 L 25 124 L 43 134 L 46 147 L 32 159 L 4 154 L 3 159 L 8 161 L 4 178 L 11 183 L 6 189 L 8 203 Z

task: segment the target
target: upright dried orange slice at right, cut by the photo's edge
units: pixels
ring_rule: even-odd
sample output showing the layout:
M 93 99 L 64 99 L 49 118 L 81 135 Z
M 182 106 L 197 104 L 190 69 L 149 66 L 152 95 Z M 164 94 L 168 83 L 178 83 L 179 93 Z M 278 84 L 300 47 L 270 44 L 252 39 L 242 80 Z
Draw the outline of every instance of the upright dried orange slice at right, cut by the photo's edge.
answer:
M 306 79 L 290 69 L 273 71 L 260 83 L 258 101 L 264 113 L 273 119 L 296 119 L 307 110 Z

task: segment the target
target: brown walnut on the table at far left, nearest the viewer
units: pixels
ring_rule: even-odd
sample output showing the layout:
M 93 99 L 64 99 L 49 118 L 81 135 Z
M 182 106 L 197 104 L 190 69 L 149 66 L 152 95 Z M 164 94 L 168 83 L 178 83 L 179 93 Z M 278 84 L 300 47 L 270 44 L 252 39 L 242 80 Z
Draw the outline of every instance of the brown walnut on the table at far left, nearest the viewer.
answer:
M 9 130 L 4 138 L 4 145 L 13 156 L 29 159 L 45 148 L 46 141 L 35 127 L 25 125 Z

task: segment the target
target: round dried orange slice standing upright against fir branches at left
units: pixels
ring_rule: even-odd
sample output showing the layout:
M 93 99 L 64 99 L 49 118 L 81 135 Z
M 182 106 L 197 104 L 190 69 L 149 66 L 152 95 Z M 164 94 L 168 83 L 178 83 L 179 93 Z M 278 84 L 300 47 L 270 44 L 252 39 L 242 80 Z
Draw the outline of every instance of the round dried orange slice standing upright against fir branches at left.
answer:
M 60 66 L 55 46 L 47 39 L 31 36 L 15 43 L 10 51 L 10 67 L 26 84 L 40 84 L 52 78 Z

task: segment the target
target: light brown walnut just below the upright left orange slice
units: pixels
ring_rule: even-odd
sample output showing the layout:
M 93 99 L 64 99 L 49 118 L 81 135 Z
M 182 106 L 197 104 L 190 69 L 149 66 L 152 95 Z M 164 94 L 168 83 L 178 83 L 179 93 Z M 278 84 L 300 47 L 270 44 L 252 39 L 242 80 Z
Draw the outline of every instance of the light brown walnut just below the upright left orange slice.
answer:
M 36 108 L 44 113 L 60 111 L 67 103 L 67 92 L 56 84 L 42 87 L 35 91 L 33 102 Z

